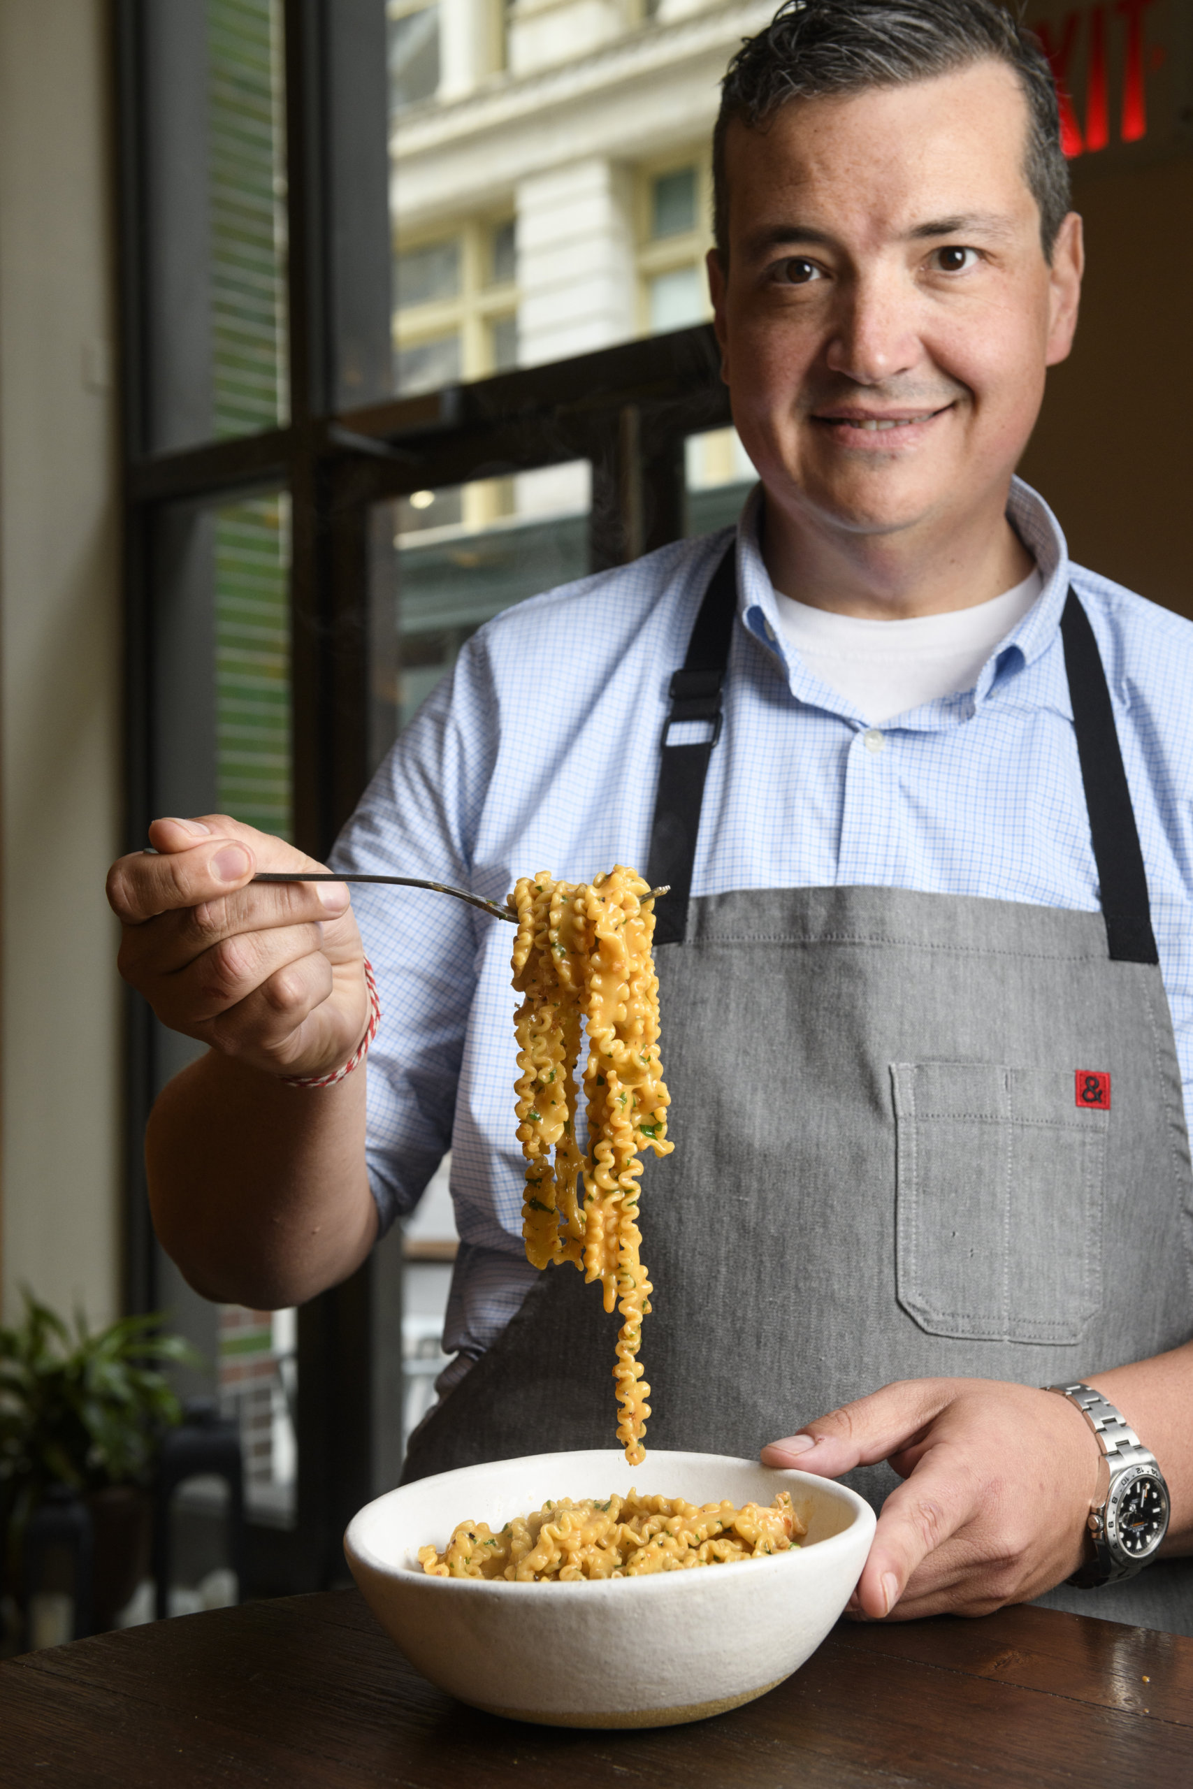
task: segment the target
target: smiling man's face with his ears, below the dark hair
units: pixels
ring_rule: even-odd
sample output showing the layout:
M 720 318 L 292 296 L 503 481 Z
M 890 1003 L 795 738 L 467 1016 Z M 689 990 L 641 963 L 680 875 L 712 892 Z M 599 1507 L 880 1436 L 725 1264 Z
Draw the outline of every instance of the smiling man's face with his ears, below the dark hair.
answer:
M 1050 267 L 1025 140 L 994 61 L 732 125 L 717 336 L 742 442 L 798 526 L 889 535 L 1002 501 L 1080 290 L 1080 220 Z

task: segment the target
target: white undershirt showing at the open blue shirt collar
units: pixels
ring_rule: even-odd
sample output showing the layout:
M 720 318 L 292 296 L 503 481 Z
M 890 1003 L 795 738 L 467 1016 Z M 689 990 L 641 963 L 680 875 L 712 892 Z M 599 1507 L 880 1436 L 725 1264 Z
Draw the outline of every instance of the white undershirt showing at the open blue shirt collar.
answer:
M 774 592 L 783 639 L 808 671 L 848 696 L 875 725 L 925 701 L 973 689 L 1000 640 L 1028 612 L 1043 581 L 1030 578 L 989 603 L 914 621 L 860 621 L 808 608 Z

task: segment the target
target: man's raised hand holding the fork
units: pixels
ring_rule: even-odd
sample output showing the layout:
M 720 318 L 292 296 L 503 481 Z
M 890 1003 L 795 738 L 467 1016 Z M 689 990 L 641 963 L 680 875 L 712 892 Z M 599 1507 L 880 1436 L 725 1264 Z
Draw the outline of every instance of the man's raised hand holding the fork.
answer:
M 120 973 L 163 1025 L 270 1075 L 324 1075 L 368 1023 L 363 948 L 343 882 L 252 882 L 324 869 L 225 814 L 156 819 L 152 852 L 122 857 L 107 900 Z

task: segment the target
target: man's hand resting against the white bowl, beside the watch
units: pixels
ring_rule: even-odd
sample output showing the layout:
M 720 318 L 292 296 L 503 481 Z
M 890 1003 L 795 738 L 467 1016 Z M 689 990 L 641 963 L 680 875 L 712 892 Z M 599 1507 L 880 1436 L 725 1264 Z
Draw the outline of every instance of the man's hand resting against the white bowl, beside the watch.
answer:
M 878 1460 L 905 1483 L 882 1506 L 850 1614 L 987 1615 L 1080 1565 L 1100 1454 L 1055 1392 L 901 1379 L 762 1449 L 764 1465 L 823 1478 Z

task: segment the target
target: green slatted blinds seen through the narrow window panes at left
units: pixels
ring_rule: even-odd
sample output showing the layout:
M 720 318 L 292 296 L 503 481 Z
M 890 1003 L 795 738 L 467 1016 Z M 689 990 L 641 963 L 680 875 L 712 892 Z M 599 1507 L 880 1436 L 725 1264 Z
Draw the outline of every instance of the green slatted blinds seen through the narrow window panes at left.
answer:
M 207 0 L 216 435 L 286 417 L 283 39 L 277 0 Z M 220 810 L 290 837 L 290 504 L 215 513 Z

